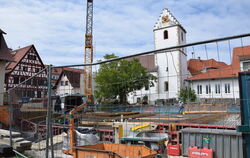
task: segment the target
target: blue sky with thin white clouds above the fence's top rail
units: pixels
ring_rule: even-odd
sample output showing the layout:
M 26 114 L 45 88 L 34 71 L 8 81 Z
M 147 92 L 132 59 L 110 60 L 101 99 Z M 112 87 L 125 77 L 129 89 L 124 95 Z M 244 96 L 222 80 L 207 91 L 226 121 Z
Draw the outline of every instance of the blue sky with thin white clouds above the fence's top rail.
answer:
M 9 47 L 34 44 L 46 64 L 83 63 L 86 0 L 0 4 L 0 28 Z M 94 0 L 95 59 L 153 50 L 153 26 L 163 8 L 187 30 L 188 43 L 250 32 L 249 0 Z

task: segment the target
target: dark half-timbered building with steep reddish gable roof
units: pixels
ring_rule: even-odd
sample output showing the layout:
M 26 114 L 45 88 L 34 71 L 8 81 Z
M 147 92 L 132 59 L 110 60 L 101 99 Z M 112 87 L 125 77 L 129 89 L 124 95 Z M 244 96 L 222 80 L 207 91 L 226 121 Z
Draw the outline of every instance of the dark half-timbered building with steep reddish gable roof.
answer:
M 12 54 L 15 62 L 9 63 L 6 67 L 6 90 L 16 87 L 45 68 L 34 45 L 14 50 Z M 42 98 L 46 94 L 46 82 L 47 74 L 43 71 L 31 80 L 18 85 L 14 89 L 15 96 L 17 99 Z

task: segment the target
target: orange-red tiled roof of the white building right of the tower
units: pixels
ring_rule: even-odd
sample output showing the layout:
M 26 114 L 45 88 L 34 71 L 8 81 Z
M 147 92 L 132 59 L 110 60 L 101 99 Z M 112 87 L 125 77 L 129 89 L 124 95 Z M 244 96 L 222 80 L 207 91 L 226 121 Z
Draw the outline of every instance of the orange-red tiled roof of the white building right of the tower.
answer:
M 214 64 L 215 69 L 208 69 L 204 73 L 201 72 L 200 70 L 201 66 L 197 66 L 197 68 L 195 67 L 195 64 L 194 64 L 195 62 L 192 60 L 196 60 L 196 59 L 190 59 L 189 62 L 191 61 L 191 63 L 188 62 L 188 69 L 190 73 L 192 74 L 192 77 L 186 80 L 191 81 L 191 80 L 237 77 L 238 73 L 240 72 L 240 60 L 247 59 L 248 57 L 250 57 L 250 46 L 236 47 L 233 49 L 233 59 L 230 65 L 226 65 L 225 63 L 223 64 L 222 62 L 217 62 L 214 59 L 212 59 L 215 62 L 217 62 L 217 64 Z M 200 63 L 198 63 L 197 65 L 199 64 Z

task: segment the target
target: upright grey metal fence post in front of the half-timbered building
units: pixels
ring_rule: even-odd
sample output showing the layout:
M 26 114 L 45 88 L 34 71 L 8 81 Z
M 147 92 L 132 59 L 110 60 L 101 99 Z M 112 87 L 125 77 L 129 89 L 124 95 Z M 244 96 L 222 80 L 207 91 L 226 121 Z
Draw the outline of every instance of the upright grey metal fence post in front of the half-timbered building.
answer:
M 46 158 L 49 157 L 49 139 L 51 145 L 51 157 L 54 158 L 54 150 L 53 150 L 53 129 L 52 129 L 52 122 L 51 122 L 51 70 L 52 65 L 48 66 L 48 104 L 47 104 L 47 118 L 46 118 Z

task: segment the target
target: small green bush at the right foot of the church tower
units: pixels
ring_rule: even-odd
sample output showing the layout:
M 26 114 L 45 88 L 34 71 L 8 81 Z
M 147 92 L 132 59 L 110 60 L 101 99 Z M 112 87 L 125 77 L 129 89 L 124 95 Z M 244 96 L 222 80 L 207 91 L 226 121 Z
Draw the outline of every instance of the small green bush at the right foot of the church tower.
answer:
M 195 91 L 190 87 L 182 88 L 179 91 L 178 99 L 182 102 L 195 101 L 196 100 Z

